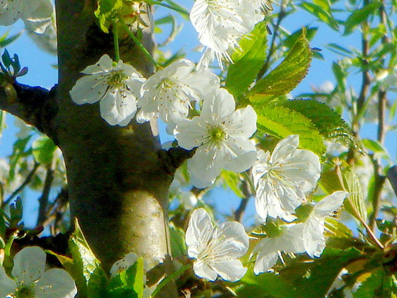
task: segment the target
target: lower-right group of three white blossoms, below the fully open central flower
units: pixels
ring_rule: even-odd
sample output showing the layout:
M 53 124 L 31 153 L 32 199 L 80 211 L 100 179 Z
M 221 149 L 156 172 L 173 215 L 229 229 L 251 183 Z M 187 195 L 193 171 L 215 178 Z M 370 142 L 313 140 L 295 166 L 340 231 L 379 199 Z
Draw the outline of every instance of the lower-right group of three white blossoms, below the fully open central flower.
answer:
M 272 154 L 258 150 L 252 167 L 258 215 L 263 222 L 269 218 L 282 222 L 253 248 L 250 258 L 256 256 L 255 274 L 270 270 L 281 252 L 320 257 L 325 248 L 326 219 L 348 195 L 336 191 L 317 203 L 308 202 L 306 194 L 314 190 L 320 177 L 320 160 L 314 153 L 298 149 L 298 145 L 299 136 L 290 135 L 278 142 Z M 302 205 L 305 212 L 298 212 Z M 223 234 L 228 236 L 218 236 Z M 216 274 L 229 281 L 240 279 L 245 274 L 238 260 L 246 252 L 241 246 L 244 235 L 237 222 L 214 228 L 205 210 L 195 210 L 186 231 L 188 255 L 197 259 L 193 264 L 195 274 L 209 280 L 216 279 Z

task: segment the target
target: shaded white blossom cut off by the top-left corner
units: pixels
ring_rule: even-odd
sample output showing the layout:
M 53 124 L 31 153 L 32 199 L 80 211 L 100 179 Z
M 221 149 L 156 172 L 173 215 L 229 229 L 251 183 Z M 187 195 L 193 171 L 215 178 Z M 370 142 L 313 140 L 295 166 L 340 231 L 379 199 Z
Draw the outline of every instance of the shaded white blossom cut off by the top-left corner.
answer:
M 22 19 L 30 31 L 41 34 L 51 22 L 52 11 L 49 0 L 0 0 L 0 25 Z

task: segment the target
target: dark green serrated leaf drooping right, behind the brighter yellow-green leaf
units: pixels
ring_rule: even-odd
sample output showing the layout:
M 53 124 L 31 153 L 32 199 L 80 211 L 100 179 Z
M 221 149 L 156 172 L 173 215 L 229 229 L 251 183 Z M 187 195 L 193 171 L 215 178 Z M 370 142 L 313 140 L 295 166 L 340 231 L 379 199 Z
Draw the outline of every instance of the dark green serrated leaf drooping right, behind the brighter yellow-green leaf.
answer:
M 310 119 L 319 133 L 328 141 L 351 146 L 355 144 L 352 131 L 338 113 L 316 100 L 289 100 L 281 103 Z

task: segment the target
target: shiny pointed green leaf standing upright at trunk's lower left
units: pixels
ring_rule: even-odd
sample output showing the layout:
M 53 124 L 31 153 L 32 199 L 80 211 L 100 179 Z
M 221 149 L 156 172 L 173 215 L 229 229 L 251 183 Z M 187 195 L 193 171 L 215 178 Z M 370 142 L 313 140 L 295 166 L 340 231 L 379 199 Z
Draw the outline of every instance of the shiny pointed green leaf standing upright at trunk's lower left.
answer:
M 74 271 L 78 272 L 79 278 L 84 278 L 84 283 L 79 290 L 87 291 L 88 283 L 92 274 L 100 266 L 99 260 L 90 249 L 77 219 L 75 220 L 75 230 L 69 239 L 69 249 L 73 257 Z

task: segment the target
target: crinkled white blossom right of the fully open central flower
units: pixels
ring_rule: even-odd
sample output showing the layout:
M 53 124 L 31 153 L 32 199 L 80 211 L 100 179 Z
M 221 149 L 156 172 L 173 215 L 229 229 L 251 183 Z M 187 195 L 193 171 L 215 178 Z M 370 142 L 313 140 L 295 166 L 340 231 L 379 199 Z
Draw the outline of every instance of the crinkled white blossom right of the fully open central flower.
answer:
M 320 178 L 320 159 L 311 151 L 298 149 L 299 136 L 290 135 L 278 142 L 270 155 L 258 151 L 258 160 L 252 166 L 257 187 L 257 213 L 292 221 L 292 213 L 305 199 L 305 193 L 314 189 Z

